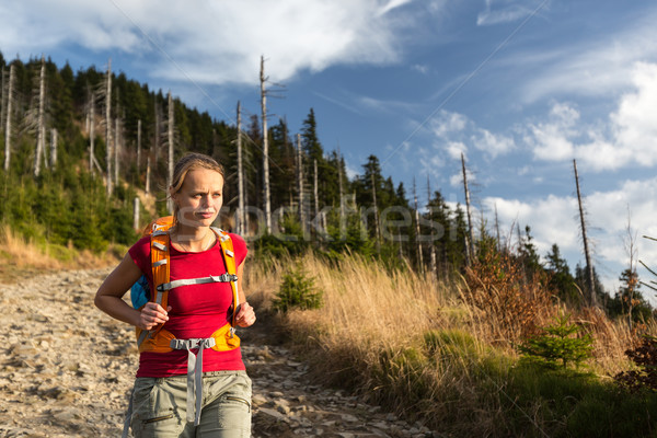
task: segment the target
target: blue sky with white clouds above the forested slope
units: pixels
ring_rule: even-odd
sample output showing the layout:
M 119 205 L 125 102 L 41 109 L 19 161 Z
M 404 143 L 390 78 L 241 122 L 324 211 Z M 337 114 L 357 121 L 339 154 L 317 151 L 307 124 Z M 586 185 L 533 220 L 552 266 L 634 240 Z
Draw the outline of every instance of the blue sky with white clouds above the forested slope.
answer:
M 529 224 L 545 254 L 584 263 L 573 159 L 596 266 L 610 288 L 623 238 L 657 265 L 657 3 L 592 0 L 4 0 L 0 50 L 95 65 L 232 122 L 260 114 L 260 57 L 284 99 L 272 119 L 299 131 L 312 107 L 324 148 L 351 174 L 369 154 L 384 175 L 426 181 L 503 233 Z M 639 269 L 644 280 L 650 279 Z M 650 292 L 645 292 L 652 296 Z

